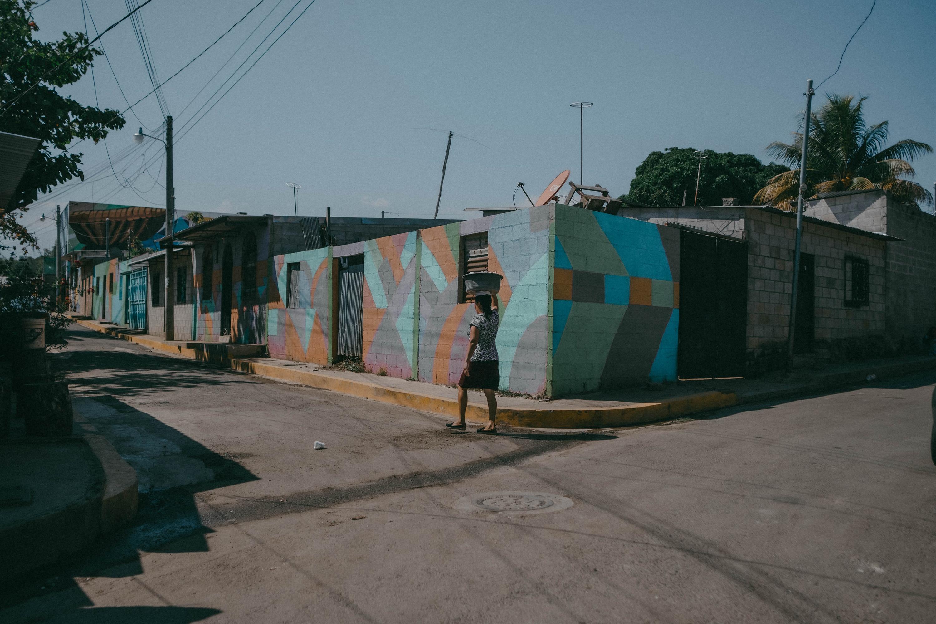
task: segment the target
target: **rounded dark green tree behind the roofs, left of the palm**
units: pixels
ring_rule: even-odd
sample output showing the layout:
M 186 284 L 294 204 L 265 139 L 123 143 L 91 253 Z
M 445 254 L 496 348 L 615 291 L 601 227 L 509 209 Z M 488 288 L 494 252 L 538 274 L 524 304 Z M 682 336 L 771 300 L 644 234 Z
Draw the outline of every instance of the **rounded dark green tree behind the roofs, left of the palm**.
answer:
M 686 205 L 692 206 L 698 170 L 694 152 L 691 147 L 651 152 L 636 168 L 630 192 L 622 199 L 650 206 L 681 206 L 685 191 Z M 701 206 L 721 206 L 723 197 L 738 197 L 741 203 L 750 204 L 757 189 L 788 170 L 774 163 L 764 165 L 749 153 L 706 150 L 705 154 L 708 158 L 702 161 L 699 178 L 698 203 Z

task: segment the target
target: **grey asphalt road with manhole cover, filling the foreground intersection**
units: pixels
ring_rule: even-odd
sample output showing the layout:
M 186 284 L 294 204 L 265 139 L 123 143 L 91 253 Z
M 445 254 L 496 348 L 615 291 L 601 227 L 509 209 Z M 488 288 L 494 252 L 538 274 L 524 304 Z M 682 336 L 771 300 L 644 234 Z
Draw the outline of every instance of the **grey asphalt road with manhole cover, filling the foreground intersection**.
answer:
M 936 621 L 936 373 L 487 437 L 73 338 L 76 407 L 138 470 L 140 513 L 8 588 L 0 621 Z

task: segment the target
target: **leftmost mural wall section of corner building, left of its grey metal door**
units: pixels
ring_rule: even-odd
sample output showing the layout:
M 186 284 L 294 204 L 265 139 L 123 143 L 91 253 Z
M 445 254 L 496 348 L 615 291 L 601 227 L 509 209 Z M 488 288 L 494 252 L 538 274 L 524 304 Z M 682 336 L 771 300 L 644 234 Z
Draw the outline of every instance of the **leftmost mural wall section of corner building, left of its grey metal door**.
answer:
M 329 363 L 330 259 L 329 248 L 271 258 L 272 280 L 267 306 L 267 340 L 271 357 Z M 296 301 L 286 300 L 290 265 L 299 271 Z

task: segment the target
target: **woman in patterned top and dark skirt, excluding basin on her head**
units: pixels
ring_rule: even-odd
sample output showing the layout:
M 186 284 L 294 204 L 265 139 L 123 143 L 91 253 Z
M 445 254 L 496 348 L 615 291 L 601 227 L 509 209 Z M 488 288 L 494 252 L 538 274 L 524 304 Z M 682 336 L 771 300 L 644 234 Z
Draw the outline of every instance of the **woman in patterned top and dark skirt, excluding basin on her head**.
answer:
M 497 397 L 494 391 L 501 385 L 501 372 L 497 361 L 497 326 L 500 318 L 497 309 L 491 309 L 493 297 L 488 293 L 475 295 L 475 312 L 468 332 L 468 353 L 465 367 L 459 379 L 459 420 L 447 423 L 446 427 L 464 429 L 465 410 L 468 407 L 468 388 L 483 390 L 488 399 L 488 422 L 478 433 L 497 433 L 494 419 L 497 416 Z

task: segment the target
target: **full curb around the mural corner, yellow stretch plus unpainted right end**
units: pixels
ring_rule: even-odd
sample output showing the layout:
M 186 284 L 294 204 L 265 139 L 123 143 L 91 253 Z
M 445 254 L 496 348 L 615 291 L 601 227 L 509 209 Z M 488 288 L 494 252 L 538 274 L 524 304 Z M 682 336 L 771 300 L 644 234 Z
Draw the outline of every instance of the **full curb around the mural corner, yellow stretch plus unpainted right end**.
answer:
M 93 321 L 76 320 L 83 327 L 108 334 L 125 341 L 137 342 L 143 346 L 173 355 L 204 359 L 204 352 L 198 351 L 193 343 L 167 343 L 141 336 L 125 334 L 119 328 L 103 327 Z M 377 383 L 367 383 L 346 379 L 313 370 L 293 370 L 273 364 L 258 362 L 256 359 L 229 357 L 219 360 L 211 358 L 212 363 L 220 364 L 232 370 L 269 377 L 283 382 L 308 385 L 323 390 L 331 390 L 362 399 L 378 400 L 384 403 L 400 405 L 422 412 L 445 414 L 456 417 L 459 414 L 458 401 L 445 397 L 420 394 L 409 390 L 389 388 Z M 809 382 L 788 387 L 751 393 L 708 391 L 685 397 L 664 399 L 652 403 L 633 403 L 625 406 L 593 407 L 588 409 L 542 409 L 499 407 L 498 422 L 514 427 L 532 428 L 615 428 L 640 425 L 689 414 L 709 412 L 724 407 L 756 403 L 775 399 L 786 399 L 812 392 L 822 392 L 830 388 L 860 384 L 869 379 L 899 377 L 921 370 L 936 369 L 936 357 L 913 362 L 895 362 L 860 370 L 831 372 Z M 483 422 L 488 419 L 487 407 L 469 401 L 466 412 L 468 419 Z

